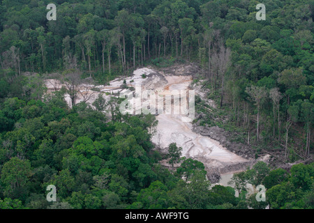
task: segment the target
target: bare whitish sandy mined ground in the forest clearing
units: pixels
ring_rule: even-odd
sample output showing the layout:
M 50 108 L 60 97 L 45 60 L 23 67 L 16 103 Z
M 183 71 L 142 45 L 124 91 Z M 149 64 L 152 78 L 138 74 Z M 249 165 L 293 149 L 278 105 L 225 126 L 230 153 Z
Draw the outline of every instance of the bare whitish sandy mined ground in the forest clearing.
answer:
M 106 100 L 110 99 L 110 95 L 105 93 L 123 93 L 126 89 L 122 88 L 123 84 L 128 87 L 140 86 L 142 90 L 158 91 L 159 95 L 171 94 L 171 91 L 188 91 L 193 82 L 193 76 L 197 73 L 197 68 L 193 65 L 177 66 L 172 68 L 164 68 L 163 70 L 154 70 L 152 68 L 140 68 L 135 70 L 132 77 L 115 79 L 108 86 L 89 86 L 88 93 L 91 94 L 87 103 L 90 105 L 98 97 L 103 95 Z M 48 91 L 61 89 L 63 84 L 57 83 L 57 80 L 46 80 L 45 84 Z M 57 86 L 57 88 L 56 88 Z M 86 90 L 86 86 L 79 86 L 80 91 Z M 92 91 L 91 89 L 99 89 Z M 195 95 L 202 96 L 200 88 L 195 88 Z M 77 102 L 81 102 L 84 98 L 78 95 Z M 70 98 L 66 95 L 66 101 L 70 106 Z M 182 105 L 181 105 L 182 106 Z M 186 105 L 184 105 L 186 106 Z M 156 144 L 156 148 L 161 153 L 167 153 L 167 147 L 171 143 L 176 143 L 182 147 L 182 156 L 193 158 L 203 162 L 207 177 L 211 183 L 219 183 L 220 176 L 230 176 L 230 174 L 238 171 L 245 171 L 247 167 L 255 164 L 256 160 L 251 157 L 244 157 L 232 153 L 225 148 L 218 140 L 212 139 L 200 130 L 195 131 L 193 120 L 188 120 L 183 114 L 158 114 L 156 116 L 158 125 L 156 133 L 152 137 L 152 141 Z M 167 160 L 160 162 L 165 167 L 170 167 Z M 174 167 L 179 166 L 176 164 Z M 224 183 L 221 183 L 224 184 Z

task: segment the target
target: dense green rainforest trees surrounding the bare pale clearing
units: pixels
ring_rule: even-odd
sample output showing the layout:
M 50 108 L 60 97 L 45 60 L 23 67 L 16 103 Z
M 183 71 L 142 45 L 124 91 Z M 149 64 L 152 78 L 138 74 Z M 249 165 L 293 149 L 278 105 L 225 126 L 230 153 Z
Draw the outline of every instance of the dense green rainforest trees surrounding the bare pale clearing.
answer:
M 102 108 L 114 101 L 70 109 L 66 91 L 45 95 L 43 85 L 48 74 L 73 69 L 106 84 L 141 66 L 197 63 L 208 98 L 228 116 L 220 127 L 244 132 L 239 140 L 256 155 L 307 160 L 313 0 L 265 0 L 266 20 L 255 16 L 261 2 L 250 0 L 55 0 L 55 21 L 49 3 L 0 1 L 0 209 L 313 208 L 313 163 L 286 171 L 257 162 L 234 175 L 236 188 L 209 190 L 202 163 L 186 159 L 174 172 L 158 164 L 154 116 L 112 106 L 108 120 Z M 267 201 L 246 198 L 246 183 L 264 184 Z M 57 202 L 47 202 L 47 185 L 56 185 Z

